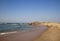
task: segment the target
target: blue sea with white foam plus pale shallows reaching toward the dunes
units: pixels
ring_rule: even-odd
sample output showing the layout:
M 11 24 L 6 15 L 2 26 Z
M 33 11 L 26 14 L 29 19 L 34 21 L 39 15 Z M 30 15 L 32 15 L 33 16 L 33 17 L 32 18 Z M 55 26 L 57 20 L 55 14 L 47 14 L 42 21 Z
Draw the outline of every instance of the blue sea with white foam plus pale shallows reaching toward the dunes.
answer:
M 36 30 L 36 29 L 39 29 L 40 31 L 44 31 L 45 29 L 47 29 L 47 27 L 46 26 L 30 26 L 28 24 L 22 24 L 22 25 L 0 24 L 0 35 L 17 33 L 18 31 L 26 32 L 29 30 Z

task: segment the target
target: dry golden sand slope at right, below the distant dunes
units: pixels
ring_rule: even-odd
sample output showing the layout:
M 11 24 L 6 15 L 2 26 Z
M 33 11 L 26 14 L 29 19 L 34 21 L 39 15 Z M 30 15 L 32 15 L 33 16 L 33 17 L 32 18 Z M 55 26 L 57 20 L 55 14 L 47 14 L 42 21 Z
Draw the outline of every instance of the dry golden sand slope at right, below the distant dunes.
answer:
M 60 27 L 50 27 L 34 41 L 60 41 Z

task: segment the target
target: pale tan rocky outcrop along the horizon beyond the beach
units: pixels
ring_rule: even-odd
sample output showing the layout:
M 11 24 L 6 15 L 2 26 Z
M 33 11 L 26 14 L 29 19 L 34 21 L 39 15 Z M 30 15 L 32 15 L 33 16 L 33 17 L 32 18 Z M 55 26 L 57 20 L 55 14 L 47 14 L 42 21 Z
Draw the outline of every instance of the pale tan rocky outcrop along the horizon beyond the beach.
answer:
M 60 24 L 55 22 L 32 22 L 32 23 L 29 23 L 29 25 L 32 25 L 32 26 L 44 25 L 49 27 L 56 27 L 56 26 L 60 27 Z

